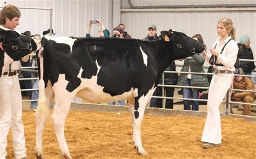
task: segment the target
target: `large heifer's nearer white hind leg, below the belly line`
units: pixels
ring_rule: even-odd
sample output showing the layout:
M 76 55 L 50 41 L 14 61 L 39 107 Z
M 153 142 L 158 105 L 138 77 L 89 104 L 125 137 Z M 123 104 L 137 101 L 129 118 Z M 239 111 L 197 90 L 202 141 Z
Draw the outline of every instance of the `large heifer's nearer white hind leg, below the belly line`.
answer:
M 61 98 L 56 98 L 55 108 L 51 115 L 60 151 L 62 153 L 62 156 L 65 158 L 72 158 L 69 154 L 69 147 L 66 143 L 64 135 L 65 120 L 69 113 L 70 104 L 71 99 L 63 100 Z

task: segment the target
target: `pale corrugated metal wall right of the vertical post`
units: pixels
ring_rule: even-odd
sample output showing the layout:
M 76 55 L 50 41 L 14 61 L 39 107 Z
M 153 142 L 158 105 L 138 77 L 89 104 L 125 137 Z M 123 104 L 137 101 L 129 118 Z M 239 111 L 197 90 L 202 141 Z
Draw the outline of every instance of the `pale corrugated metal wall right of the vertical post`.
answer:
M 206 5 L 206 4 L 256 4 L 256 1 L 131 1 L 133 6 L 153 5 Z M 256 8 L 246 9 L 137 9 L 132 10 L 126 0 L 121 3 L 121 23 L 126 25 L 126 31 L 133 37 L 146 37 L 147 26 L 156 24 L 157 31 L 172 28 L 189 36 L 200 33 L 207 47 L 212 47 L 217 39 L 217 23 L 220 18 L 228 17 L 233 20 L 236 28 L 236 41 L 246 34 L 251 38 L 251 47 L 256 57 Z M 181 62 L 178 62 L 181 63 Z

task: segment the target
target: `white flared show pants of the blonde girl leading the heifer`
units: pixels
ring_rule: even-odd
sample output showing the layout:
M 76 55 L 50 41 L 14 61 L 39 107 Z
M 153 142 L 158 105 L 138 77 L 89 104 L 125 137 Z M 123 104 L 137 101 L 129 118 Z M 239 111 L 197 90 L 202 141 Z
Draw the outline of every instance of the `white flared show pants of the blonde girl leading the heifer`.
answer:
M 230 88 L 233 74 L 214 75 L 210 84 L 207 102 L 207 118 L 201 138 L 202 142 L 221 143 L 219 106 Z

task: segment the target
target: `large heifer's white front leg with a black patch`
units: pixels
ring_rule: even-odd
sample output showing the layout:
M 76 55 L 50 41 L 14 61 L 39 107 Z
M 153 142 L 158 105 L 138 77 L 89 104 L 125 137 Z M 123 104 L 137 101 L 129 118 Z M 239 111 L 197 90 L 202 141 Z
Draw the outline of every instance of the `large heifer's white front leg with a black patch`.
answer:
M 134 119 L 133 119 L 133 140 L 134 145 L 138 149 L 138 153 L 140 155 L 147 155 L 147 152 L 144 150 L 142 146 L 142 138 L 140 135 L 140 129 L 142 127 L 142 120 L 144 117 L 144 111 L 146 108 L 145 97 L 135 97 L 135 105 L 134 105 Z

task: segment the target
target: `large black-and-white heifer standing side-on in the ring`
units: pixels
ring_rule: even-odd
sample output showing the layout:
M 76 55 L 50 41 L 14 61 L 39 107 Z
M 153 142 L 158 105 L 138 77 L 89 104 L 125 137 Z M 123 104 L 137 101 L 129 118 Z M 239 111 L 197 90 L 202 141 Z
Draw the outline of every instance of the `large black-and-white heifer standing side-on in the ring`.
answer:
M 39 105 L 35 115 L 37 157 L 43 158 L 42 133 L 55 98 L 51 119 L 62 155 L 71 158 L 64 124 L 75 96 L 91 103 L 128 100 L 132 141 L 138 153 L 146 155 L 140 126 L 161 74 L 174 60 L 204 50 L 204 44 L 181 32 L 162 31 L 160 36 L 162 40 L 153 42 L 45 36 L 48 41 L 44 45 L 44 72 L 39 81 Z

